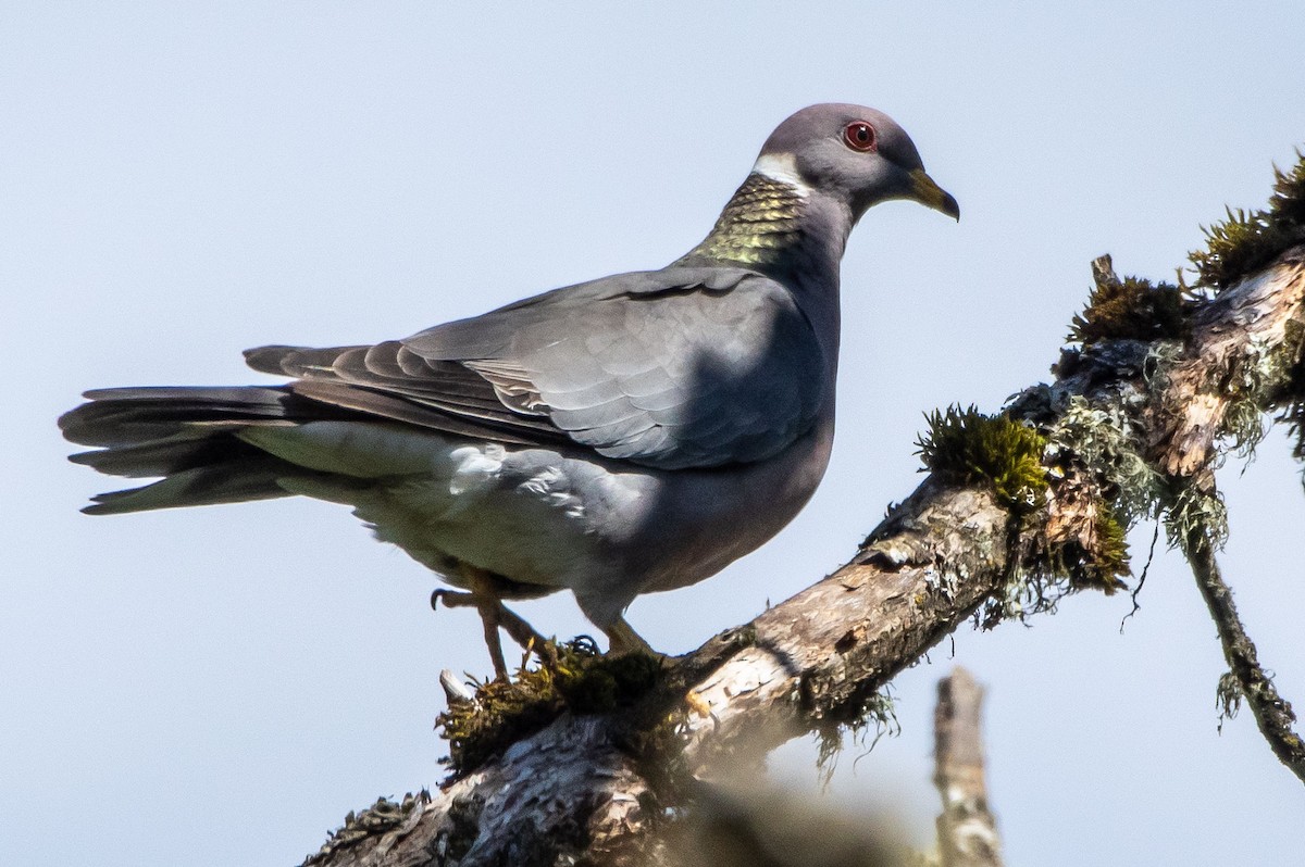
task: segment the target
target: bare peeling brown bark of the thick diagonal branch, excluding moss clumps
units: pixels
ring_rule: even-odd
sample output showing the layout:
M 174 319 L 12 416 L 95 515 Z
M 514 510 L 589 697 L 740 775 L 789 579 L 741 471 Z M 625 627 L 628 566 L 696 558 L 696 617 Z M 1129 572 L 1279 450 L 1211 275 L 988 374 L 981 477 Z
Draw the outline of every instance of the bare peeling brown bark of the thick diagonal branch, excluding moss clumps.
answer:
M 1095 472 L 1100 455 L 1066 456 L 1057 425 L 1071 411 L 1109 419 L 1126 407 L 1159 480 L 1142 511 L 1165 508 L 1195 524 L 1208 518 L 1185 503 L 1212 497 L 1206 480 L 1229 415 L 1249 407 L 1258 417 L 1287 387 L 1292 365 L 1268 361 L 1298 339 L 1302 296 L 1305 249 L 1296 248 L 1203 304 L 1185 348 L 1161 370 L 1155 347 L 1138 340 L 1062 359 L 1054 383 L 1027 390 L 1010 409 L 1061 442 L 1058 481 L 1032 512 L 1000 503 L 983 481 L 929 476 L 846 566 L 677 660 L 641 705 L 564 714 L 428 801 L 355 816 L 356 830 L 309 863 L 672 863 L 660 828 L 692 803 L 692 784 L 796 735 L 859 720 L 894 674 L 980 606 L 1009 613 L 1030 578 L 1054 579 L 1073 566 L 1066 542 L 1094 544 L 1101 497 L 1118 497 L 1122 482 Z

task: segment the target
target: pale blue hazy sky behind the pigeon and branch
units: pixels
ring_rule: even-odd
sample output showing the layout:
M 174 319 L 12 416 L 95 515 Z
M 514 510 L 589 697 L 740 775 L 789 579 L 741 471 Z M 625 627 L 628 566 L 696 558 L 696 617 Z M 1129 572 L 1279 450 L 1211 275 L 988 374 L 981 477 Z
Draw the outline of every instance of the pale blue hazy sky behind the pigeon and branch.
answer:
M 240 349 L 375 342 L 658 267 L 814 102 L 893 115 L 958 224 L 873 210 L 843 269 L 839 438 L 774 542 L 630 621 L 683 652 L 843 562 L 917 484 L 923 413 L 1045 379 L 1109 252 L 1172 278 L 1305 143 L 1305 5 L 0 3 L 0 863 L 290 864 L 377 795 L 435 786 L 441 668 L 470 611 L 338 506 L 82 516 L 84 389 L 266 381 Z M 1305 707 L 1305 527 L 1275 430 L 1221 484 L 1228 578 Z M 1141 566 L 1151 528 L 1134 533 Z M 1178 557 L 1142 610 L 1066 600 L 955 635 L 989 687 L 1007 863 L 1298 864 L 1305 790 L 1249 713 Z M 569 596 L 522 606 L 589 627 Z M 831 795 L 932 837 L 945 641 L 898 678 L 903 733 Z M 814 787 L 813 748 L 775 776 Z

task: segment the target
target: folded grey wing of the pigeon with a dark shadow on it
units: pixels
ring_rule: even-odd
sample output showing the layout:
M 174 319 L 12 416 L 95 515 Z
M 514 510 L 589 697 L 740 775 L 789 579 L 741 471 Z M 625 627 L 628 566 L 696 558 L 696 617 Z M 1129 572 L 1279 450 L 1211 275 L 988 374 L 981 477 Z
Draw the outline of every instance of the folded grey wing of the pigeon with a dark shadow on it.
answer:
M 778 454 L 812 428 L 833 385 L 791 293 L 740 269 L 622 274 L 405 340 L 247 357 L 301 387 L 350 383 L 352 409 L 401 398 L 428 413 L 405 421 L 667 469 Z

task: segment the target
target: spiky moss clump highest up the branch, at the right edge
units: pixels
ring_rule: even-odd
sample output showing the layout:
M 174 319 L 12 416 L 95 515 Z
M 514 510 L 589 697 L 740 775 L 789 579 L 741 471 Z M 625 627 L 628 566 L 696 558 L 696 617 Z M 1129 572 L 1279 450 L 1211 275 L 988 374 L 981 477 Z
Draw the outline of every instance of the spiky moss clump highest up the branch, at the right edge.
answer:
M 1227 209 L 1228 219 L 1206 229 L 1206 249 L 1189 256 L 1202 284 L 1225 289 L 1305 242 L 1305 155 L 1296 155 L 1291 171 L 1274 168 L 1267 210 Z

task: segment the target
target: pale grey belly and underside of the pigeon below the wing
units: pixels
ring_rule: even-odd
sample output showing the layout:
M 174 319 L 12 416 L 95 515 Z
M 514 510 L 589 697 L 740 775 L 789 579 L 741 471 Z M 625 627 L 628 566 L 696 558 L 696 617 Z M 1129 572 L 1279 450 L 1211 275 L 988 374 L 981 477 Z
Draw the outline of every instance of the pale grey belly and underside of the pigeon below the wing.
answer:
M 699 581 L 778 533 L 816 490 L 833 425 L 778 458 L 710 471 L 405 435 L 420 472 L 405 464 L 365 486 L 295 493 L 347 502 L 378 538 L 453 584 L 470 565 L 539 595 L 569 588 L 602 627 L 639 593 Z

